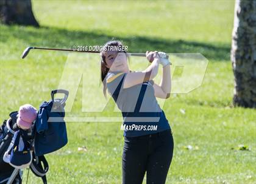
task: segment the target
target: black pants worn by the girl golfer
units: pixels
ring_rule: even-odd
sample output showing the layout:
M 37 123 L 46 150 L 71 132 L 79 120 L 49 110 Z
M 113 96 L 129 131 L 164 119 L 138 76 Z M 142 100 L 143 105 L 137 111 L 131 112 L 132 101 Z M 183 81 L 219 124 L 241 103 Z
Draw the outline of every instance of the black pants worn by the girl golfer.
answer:
M 124 137 L 123 184 L 165 183 L 174 141 L 171 130 L 140 137 Z

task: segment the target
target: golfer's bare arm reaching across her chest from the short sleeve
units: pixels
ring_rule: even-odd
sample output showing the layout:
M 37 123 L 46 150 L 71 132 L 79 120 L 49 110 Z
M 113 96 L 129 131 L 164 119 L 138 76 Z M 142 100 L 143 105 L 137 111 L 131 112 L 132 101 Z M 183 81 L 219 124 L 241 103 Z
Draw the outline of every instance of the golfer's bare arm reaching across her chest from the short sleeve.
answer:
M 124 88 L 135 86 L 136 84 L 141 84 L 145 81 L 152 80 L 155 78 L 158 72 L 159 59 L 155 58 L 152 61 L 151 65 L 148 66 L 146 70 L 142 72 L 130 72 L 126 74 L 126 78 L 124 80 Z

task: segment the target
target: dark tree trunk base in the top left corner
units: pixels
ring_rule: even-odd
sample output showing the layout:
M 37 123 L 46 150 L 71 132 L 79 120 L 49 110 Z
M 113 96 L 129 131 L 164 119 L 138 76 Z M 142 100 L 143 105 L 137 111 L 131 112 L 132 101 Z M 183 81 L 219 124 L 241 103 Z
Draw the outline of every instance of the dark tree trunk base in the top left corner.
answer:
M 8 25 L 39 27 L 30 0 L 0 0 L 0 20 Z

